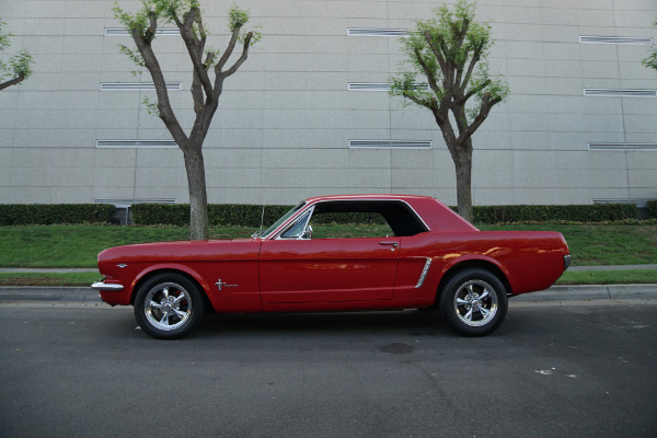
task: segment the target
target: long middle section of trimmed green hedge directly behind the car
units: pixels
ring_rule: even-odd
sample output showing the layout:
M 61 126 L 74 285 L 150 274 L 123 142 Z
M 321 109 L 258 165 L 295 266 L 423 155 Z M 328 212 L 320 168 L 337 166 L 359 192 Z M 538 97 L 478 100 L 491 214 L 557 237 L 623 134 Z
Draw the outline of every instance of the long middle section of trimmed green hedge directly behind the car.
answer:
M 291 206 L 266 206 L 263 223 L 274 223 Z M 211 227 L 260 227 L 263 207 L 243 204 L 211 204 L 208 206 L 208 220 Z M 636 219 L 637 208 L 633 204 L 596 205 L 518 205 L 518 206 L 475 206 L 475 223 L 500 222 L 602 222 Z M 189 205 L 186 204 L 136 204 L 132 206 L 135 224 L 170 224 L 184 227 L 189 223 Z M 381 223 L 378 215 L 351 214 L 323 215 L 322 223 Z

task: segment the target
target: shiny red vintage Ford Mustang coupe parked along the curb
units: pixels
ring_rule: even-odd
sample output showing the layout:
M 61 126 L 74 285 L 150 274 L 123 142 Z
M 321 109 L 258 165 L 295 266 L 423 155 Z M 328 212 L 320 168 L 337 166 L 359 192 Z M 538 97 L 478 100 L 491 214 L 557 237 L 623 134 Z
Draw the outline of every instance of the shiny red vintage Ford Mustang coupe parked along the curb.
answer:
M 382 218 L 379 237 L 323 238 L 323 215 Z M 315 228 L 313 234 L 313 227 Z M 549 288 L 568 268 L 564 237 L 480 231 L 437 199 L 346 195 L 307 199 L 251 239 L 162 242 L 99 254 L 103 301 L 134 306 L 158 338 L 220 313 L 438 309 L 466 336 L 493 332 L 508 297 Z

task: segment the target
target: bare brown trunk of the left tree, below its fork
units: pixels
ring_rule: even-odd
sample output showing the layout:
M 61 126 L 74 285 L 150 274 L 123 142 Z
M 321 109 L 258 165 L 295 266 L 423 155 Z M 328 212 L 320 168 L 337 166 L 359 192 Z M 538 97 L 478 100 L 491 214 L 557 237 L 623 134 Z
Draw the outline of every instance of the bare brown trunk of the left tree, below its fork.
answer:
M 208 195 L 200 147 L 184 151 L 189 188 L 189 239 L 208 240 Z

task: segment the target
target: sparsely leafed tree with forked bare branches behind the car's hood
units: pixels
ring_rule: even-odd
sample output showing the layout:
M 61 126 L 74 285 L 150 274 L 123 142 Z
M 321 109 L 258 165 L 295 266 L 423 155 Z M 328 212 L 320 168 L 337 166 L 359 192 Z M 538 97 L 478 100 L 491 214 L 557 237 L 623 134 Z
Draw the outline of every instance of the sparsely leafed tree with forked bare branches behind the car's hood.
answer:
M 208 201 L 203 159 L 203 142 L 206 138 L 212 116 L 219 105 L 223 91 L 223 81 L 232 76 L 249 56 L 249 48 L 260 39 L 254 32 L 242 33 L 249 22 L 249 12 L 233 5 L 229 11 L 230 42 L 223 54 L 206 48 L 208 32 L 201 19 L 198 0 L 142 0 L 142 8 L 136 13 L 114 8 L 118 19 L 129 31 L 137 50 L 120 46 L 140 68 L 150 71 L 155 87 L 158 102 L 145 100 L 150 112 L 154 112 L 164 122 L 171 136 L 183 151 L 187 185 L 189 189 L 189 239 L 208 239 Z M 152 43 L 157 36 L 158 23 L 173 23 L 181 31 L 189 60 L 192 61 L 192 96 L 196 119 L 189 134 L 186 134 L 171 107 L 169 92 L 160 62 L 153 51 Z M 228 67 L 235 45 L 242 45 L 242 53 Z

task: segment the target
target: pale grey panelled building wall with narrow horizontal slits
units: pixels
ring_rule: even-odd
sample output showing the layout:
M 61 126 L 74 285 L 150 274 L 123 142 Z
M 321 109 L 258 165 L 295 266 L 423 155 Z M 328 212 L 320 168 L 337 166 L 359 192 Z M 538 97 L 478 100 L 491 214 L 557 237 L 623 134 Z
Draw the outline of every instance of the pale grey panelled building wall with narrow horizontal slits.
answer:
M 136 9 L 137 1 L 120 1 Z M 384 83 L 403 60 L 388 36 L 349 28 L 413 26 L 435 1 L 242 0 L 263 41 L 226 82 L 204 150 L 210 203 L 291 204 L 331 193 L 411 193 L 456 204 L 451 158 L 431 115 L 404 107 Z M 474 201 L 590 204 L 657 198 L 657 72 L 641 66 L 656 0 L 480 0 L 495 46 L 491 71 L 509 101 L 474 138 Z M 231 1 L 204 1 L 211 46 L 227 42 Z M 141 101 L 152 91 L 103 91 L 134 77 L 117 44 L 113 0 L 0 1 L 0 18 L 35 74 L 0 92 L 0 203 L 187 200 L 182 154 Z M 166 25 L 171 27 L 171 25 Z M 110 31 L 111 32 L 111 31 Z M 600 41 L 580 37 L 647 38 Z M 623 44 L 619 44 L 623 43 Z M 641 44 L 637 44 L 641 43 Z M 191 73 L 178 36 L 155 43 L 183 125 L 193 122 Z M 108 85 L 107 85 L 108 84 Z M 595 90 L 645 96 L 599 96 Z M 353 148 L 350 140 L 428 148 Z

